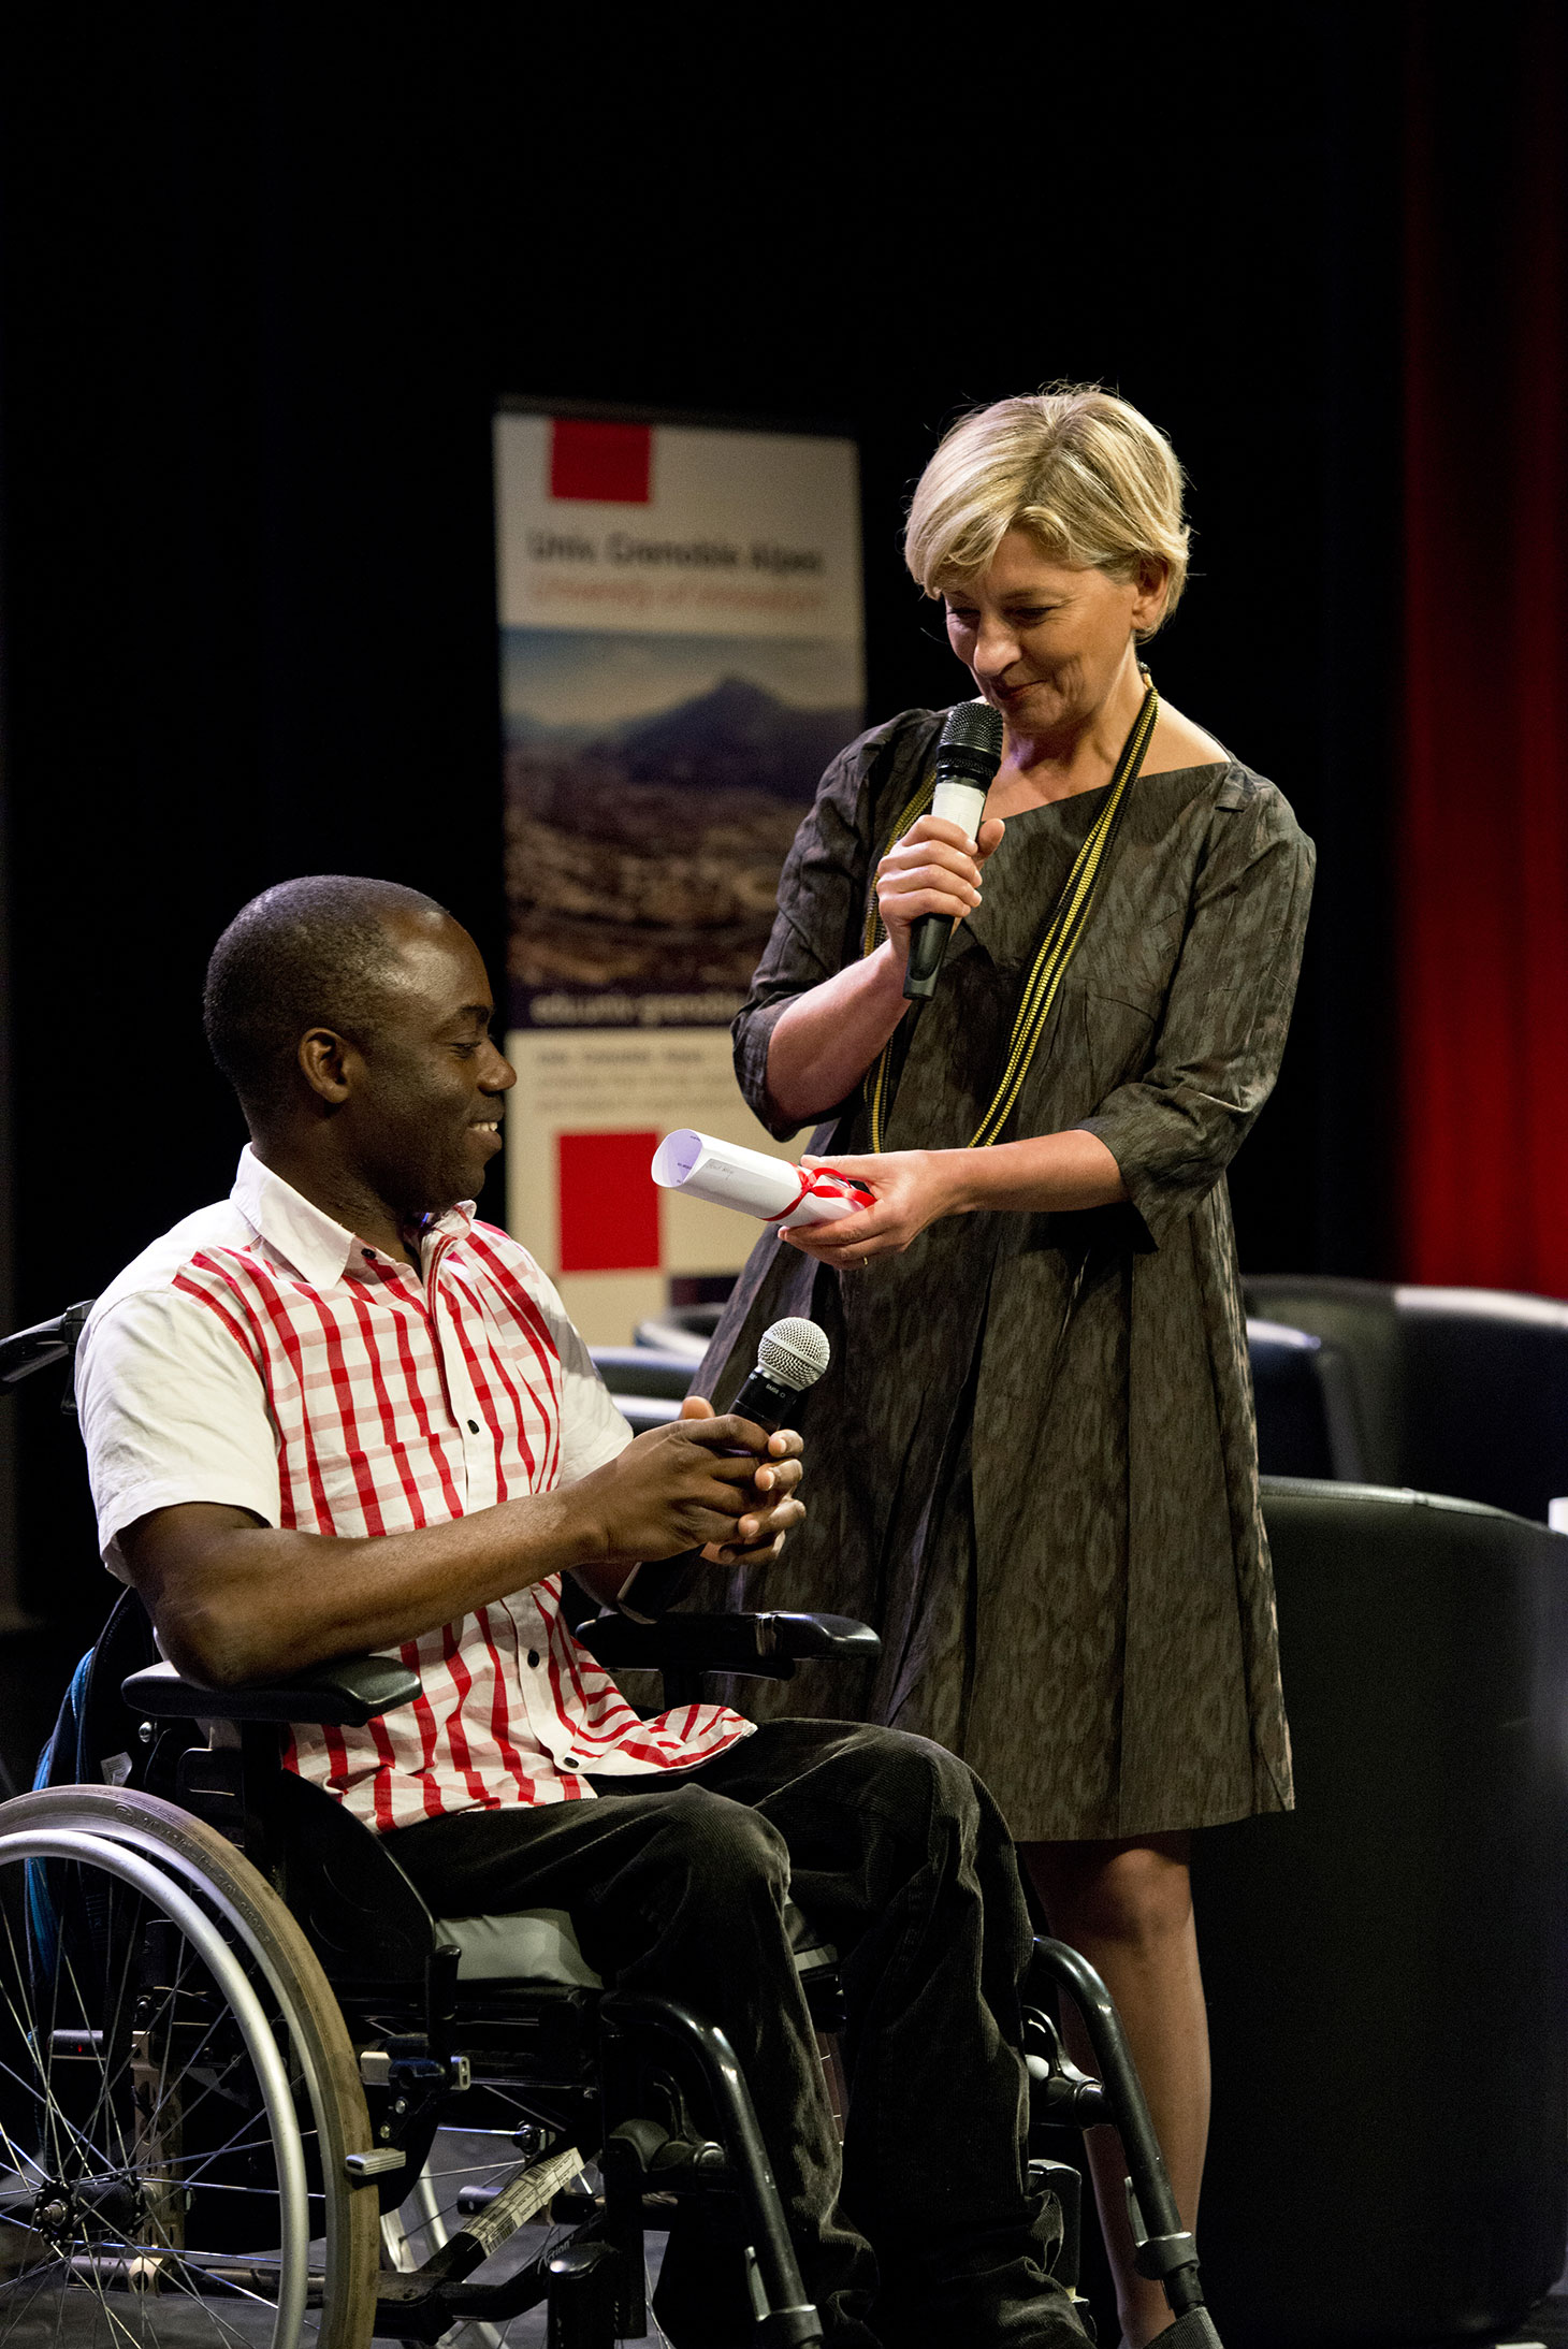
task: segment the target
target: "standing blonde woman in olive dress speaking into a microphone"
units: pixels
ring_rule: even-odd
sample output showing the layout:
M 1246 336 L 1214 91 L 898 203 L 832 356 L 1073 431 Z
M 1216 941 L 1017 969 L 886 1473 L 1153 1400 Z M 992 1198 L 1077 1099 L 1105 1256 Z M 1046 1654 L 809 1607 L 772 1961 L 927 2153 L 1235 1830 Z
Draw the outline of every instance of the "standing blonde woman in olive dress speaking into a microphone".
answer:
M 805 1527 L 768 1602 L 866 1616 L 876 1677 L 772 1691 L 939 1738 L 1122 2008 L 1185 2222 L 1209 2121 L 1192 1828 L 1291 1804 L 1225 1167 L 1279 1071 L 1312 846 L 1160 702 L 1181 467 L 1101 390 L 948 432 L 906 557 L 1005 723 L 979 839 L 922 813 L 946 712 L 829 768 L 735 1029 L 746 1099 L 876 1205 L 758 1243 L 697 1386 L 812 1313 Z M 904 1003 L 911 923 L 955 923 Z M 749 1593 L 756 1604 L 756 1590 Z M 749 1684 L 751 1687 L 751 1684 Z M 1099 2178 L 1122 2328 L 1169 2321 Z

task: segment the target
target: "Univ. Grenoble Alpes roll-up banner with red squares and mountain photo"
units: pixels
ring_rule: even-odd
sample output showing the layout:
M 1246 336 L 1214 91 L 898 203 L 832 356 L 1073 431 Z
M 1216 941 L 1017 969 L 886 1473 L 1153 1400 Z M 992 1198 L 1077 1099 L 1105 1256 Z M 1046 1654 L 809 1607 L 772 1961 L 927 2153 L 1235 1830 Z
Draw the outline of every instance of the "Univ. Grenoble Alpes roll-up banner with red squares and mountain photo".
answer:
M 507 792 L 507 1224 L 596 1346 L 721 1294 L 753 1229 L 660 1189 L 664 1135 L 793 1158 L 730 1019 L 779 867 L 864 723 L 852 439 L 495 418 Z

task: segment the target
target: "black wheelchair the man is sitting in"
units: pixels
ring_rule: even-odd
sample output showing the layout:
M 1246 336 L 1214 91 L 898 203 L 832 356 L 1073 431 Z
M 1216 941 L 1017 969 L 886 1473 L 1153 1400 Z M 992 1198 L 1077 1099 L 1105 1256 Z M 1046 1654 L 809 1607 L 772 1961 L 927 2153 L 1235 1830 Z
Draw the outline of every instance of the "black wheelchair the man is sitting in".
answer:
M 0 1388 L 68 1360 L 85 1318 L 0 1341 Z M 876 1651 L 838 1616 L 606 1614 L 577 1635 L 610 1670 L 657 1670 L 667 1703 L 707 1672 Z M 115 1602 L 40 1785 L 0 1804 L 7 2344 L 500 2349 L 542 2309 L 552 2349 L 613 2349 L 648 2337 L 646 2232 L 671 2220 L 711 2262 L 714 2340 L 822 2340 L 723 2032 L 606 1985 L 561 1912 L 432 1917 L 392 1851 L 282 1766 L 282 1724 L 366 1727 L 415 1696 L 387 1656 L 204 1689 L 155 1661 L 134 1593 Z M 836 1952 L 789 1924 L 843 2109 Z M 1035 1966 L 1030 2173 L 1059 2196 L 1056 2274 L 1077 2274 L 1080 2173 L 1038 2147 L 1110 2123 L 1138 2264 L 1174 2314 L 1162 2349 L 1216 2344 L 1110 1997 L 1061 1943 Z M 1059 1992 L 1099 2079 L 1063 2053 Z

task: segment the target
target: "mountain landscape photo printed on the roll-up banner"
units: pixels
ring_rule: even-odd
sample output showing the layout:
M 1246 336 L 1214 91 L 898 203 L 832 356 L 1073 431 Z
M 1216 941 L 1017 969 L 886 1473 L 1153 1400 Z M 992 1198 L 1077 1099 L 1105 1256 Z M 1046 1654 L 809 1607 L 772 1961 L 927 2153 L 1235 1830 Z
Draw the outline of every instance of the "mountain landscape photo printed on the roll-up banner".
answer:
M 608 989 L 728 1022 L 800 815 L 861 728 L 859 651 L 509 627 L 502 662 L 512 1024 L 570 1019 L 582 989 L 601 1019 Z

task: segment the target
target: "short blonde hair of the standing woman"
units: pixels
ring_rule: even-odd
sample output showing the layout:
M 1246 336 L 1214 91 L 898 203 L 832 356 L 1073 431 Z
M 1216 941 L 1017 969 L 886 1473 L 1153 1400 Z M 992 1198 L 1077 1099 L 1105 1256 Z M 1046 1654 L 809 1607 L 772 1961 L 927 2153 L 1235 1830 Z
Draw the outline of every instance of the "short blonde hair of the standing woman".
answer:
M 930 597 L 986 571 L 1007 531 L 1052 561 L 1131 580 L 1188 578 L 1181 465 L 1164 432 L 1094 383 L 974 409 L 944 435 L 908 507 L 904 559 Z M 1153 634 L 1153 630 L 1148 632 Z

